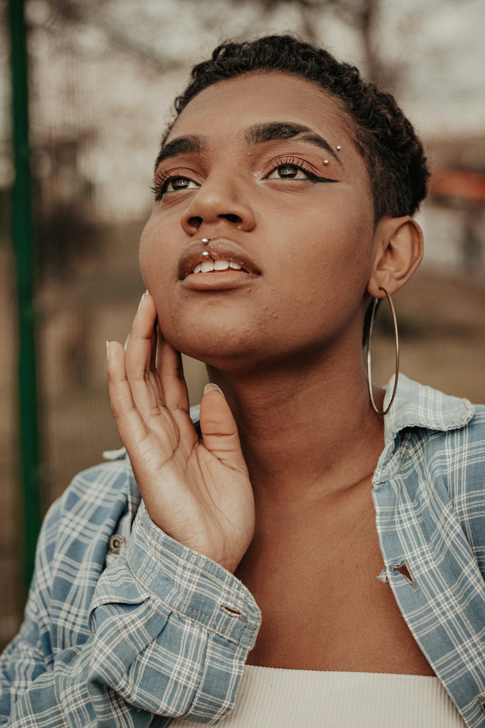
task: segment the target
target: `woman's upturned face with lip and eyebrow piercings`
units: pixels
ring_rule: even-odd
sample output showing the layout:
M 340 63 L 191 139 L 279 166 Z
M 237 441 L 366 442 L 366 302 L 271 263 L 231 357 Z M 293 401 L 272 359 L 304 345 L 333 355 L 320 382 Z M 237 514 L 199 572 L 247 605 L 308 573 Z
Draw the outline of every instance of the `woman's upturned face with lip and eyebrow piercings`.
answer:
M 164 150 L 140 268 L 174 347 L 249 368 L 361 335 L 374 205 L 329 95 L 278 72 L 220 82 Z M 216 270 L 194 272 L 207 260 Z

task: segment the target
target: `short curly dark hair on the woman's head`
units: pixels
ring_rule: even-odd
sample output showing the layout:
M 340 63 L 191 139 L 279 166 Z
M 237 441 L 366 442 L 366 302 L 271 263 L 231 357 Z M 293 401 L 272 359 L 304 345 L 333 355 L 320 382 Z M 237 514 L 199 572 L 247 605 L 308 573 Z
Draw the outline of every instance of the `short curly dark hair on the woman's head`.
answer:
M 429 170 L 412 124 L 392 94 L 366 82 L 355 66 L 341 63 L 323 48 L 290 35 L 223 43 L 212 58 L 193 67 L 188 87 L 175 100 L 177 116 L 212 84 L 253 71 L 301 76 L 336 98 L 350 119 L 353 143 L 366 164 L 375 222 L 386 215 L 414 215 L 426 196 Z

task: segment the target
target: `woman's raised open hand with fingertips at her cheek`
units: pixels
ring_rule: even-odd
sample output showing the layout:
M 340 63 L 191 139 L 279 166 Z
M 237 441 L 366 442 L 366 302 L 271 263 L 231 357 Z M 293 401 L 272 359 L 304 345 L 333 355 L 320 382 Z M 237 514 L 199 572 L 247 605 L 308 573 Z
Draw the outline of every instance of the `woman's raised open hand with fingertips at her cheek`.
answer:
M 108 380 L 111 411 L 152 521 L 236 571 L 254 534 L 254 499 L 237 425 L 212 385 L 201 400 L 199 441 L 180 353 L 164 340 L 148 293 L 126 354 L 118 341 L 108 344 Z

